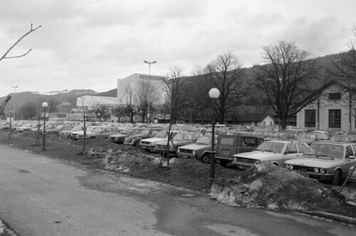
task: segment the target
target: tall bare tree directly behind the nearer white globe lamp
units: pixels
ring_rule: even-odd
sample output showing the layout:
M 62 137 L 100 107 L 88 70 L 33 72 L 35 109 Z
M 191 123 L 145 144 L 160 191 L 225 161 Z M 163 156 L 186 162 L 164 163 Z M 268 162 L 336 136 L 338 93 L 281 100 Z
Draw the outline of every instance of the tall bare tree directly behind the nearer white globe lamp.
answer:
M 218 114 L 221 123 L 224 123 L 226 112 L 244 97 L 244 70 L 241 66 L 236 56 L 230 52 L 218 55 L 213 62 L 206 65 L 211 87 L 220 91 L 216 111 L 213 112 Z

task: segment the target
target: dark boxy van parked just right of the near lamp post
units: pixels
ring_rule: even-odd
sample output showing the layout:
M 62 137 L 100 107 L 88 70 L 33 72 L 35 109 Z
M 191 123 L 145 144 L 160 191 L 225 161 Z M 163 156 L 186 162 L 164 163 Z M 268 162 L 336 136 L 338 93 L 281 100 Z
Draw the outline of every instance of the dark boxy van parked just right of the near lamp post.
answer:
M 234 154 L 253 151 L 262 144 L 263 138 L 249 132 L 226 131 L 219 133 L 215 160 L 226 167 Z

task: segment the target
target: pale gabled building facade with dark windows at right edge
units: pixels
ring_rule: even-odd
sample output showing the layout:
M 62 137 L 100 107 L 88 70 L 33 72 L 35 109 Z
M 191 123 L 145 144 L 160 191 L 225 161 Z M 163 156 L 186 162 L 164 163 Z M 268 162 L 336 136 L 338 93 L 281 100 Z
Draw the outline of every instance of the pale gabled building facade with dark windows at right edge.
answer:
M 318 100 L 298 112 L 297 127 L 332 132 L 355 129 L 355 102 L 350 89 L 335 82 L 323 90 Z

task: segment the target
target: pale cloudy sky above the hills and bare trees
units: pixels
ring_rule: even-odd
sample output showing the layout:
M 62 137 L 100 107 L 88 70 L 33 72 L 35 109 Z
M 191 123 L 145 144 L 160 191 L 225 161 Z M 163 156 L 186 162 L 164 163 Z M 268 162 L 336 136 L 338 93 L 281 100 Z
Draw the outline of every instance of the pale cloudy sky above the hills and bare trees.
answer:
M 0 61 L 0 96 L 117 87 L 133 73 L 190 75 L 226 52 L 244 67 L 262 47 L 291 41 L 315 57 L 347 50 L 355 0 L 1 0 L 0 57 L 33 23 L 42 26 Z

